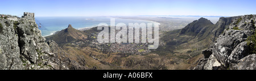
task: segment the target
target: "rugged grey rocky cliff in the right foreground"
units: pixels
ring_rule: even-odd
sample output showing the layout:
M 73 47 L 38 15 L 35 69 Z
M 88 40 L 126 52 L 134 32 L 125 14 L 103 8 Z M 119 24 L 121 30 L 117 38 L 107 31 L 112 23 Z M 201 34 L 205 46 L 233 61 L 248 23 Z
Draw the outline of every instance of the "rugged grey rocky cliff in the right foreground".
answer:
M 251 52 L 255 49 L 249 45 L 253 42 L 247 40 L 255 33 L 255 20 L 256 15 L 221 17 L 216 25 L 226 25 L 225 30 L 202 52 L 204 58 L 193 69 L 256 69 L 255 54 Z

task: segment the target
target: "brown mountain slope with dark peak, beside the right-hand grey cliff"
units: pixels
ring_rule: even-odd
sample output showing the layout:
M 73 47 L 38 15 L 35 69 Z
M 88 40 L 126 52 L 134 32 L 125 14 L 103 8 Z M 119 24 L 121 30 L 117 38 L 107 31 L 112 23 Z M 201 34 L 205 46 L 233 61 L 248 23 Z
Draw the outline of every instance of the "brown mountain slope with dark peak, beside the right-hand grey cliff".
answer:
M 185 59 L 185 62 L 187 62 L 185 65 L 196 66 L 197 60 L 203 57 L 203 55 L 200 55 L 201 51 L 207 49 L 236 18 L 220 17 L 216 24 L 212 24 L 212 22 L 202 17 L 191 22 L 183 29 L 164 33 L 161 38 L 163 44 L 152 52 Z

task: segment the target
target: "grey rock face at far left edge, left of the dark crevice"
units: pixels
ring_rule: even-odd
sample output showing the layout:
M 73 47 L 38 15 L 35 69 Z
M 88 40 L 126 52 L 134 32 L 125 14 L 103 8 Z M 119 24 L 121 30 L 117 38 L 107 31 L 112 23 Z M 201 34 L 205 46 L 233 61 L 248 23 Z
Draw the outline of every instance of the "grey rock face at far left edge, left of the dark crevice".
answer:
M 13 21 L 0 19 L 3 28 L 0 32 L 0 69 L 24 69 L 20 60 L 18 35 L 13 28 Z

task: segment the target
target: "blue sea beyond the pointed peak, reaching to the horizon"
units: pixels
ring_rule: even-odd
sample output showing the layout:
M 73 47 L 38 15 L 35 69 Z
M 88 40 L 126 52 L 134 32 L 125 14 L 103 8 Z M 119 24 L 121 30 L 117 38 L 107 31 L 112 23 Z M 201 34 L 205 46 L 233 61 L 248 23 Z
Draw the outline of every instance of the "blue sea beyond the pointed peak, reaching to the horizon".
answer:
M 112 19 L 112 17 L 35 17 L 36 24 L 41 24 L 41 28 L 39 29 L 42 31 L 42 36 L 51 35 L 56 31 L 68 28 L 69 24 L 75 29 L 95 27 L 102 22 L 110 25 L 110 19 Z M 142 22 L 154 23 L 146 20 L 115 19 L 115 25 L 120 22 L 126 25 L 135 22 L 139 24 Z

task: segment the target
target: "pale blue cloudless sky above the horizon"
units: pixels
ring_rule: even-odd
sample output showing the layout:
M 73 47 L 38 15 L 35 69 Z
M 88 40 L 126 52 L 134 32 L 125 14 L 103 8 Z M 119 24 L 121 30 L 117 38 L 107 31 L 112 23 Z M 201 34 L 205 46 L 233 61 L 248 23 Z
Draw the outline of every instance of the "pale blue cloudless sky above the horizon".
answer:
M 255 0 L 0 0 L 0 14 L 35 16 L 238 16 L 256 14 Z

